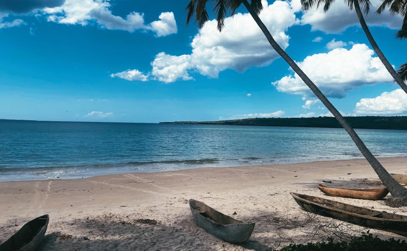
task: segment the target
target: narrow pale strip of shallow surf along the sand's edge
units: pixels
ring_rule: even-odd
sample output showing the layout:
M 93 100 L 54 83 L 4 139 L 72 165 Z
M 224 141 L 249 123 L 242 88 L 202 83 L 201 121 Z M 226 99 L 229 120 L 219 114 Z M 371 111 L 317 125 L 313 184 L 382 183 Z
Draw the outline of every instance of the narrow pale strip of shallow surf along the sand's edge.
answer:
M 350 156 L 347 156 L 350 157 Z M 254 158 L 254 157 L 253 157 Z M 385 158 L 407 158 L 407 155 L 405 154 L 400 154 L 400 155 L 384 155 L 383 157 L 378 157 L 376 155 L 377 159 L 385 159 Z M 262 158 L 259 158 L 258 161 L 257 158 L 254 159 L 248 159 L 246 161 L 239 161 L 242 164 L 240 165 L 229 165 L 232 163 L 228 163 L 228 162 L 216 162 L 214 161 L 212 164 L 216 165 L 218 164 L 218 166 L 205 166 L 205 165 L 209 165 L 209 164 L 194 164 L 194 165 L 186 165 L 186 166 L 182 166 L 180 165 L 179 168 L 174 167 L 174 170 L 157 170 L 155 171 L 157 168 L 155 167 L 150 167 L 151 169 L 145 169 L 142 170 L 138 167 L 143 166 L 143 165 L 148 165 L 150 163 L 154 163 L 156 165 L 164 165 L 164 164 L 168 164 L 168 162 L 188 162 L 191 160 L 175 160 L 175 161 L 152 161 L 152 162 L 140 162 L 142 164 L 140 164 L 139 166 L 134 166 L 134 167 L 126 167 L 124 166 L 123 169 L 120 169 L 118 167 L 115 168 L 111 168 L 111 169 L 107 169 L 107 168 L 99 168 L 96 169 L 96 167 L 100 167 L 100 166 L 112 166 L 114 164 L 93 164 L 93 165 L 76 165 L 76 166 L 66 166 L 66 167 L 35 167 L 33 169 L 36 169 L 37 171 L 30 174 L 25 174 L 26 177 L 35 177 L 34 175 L 42 175 L 45 176 L 46 171 L 44 170 L 50 170 L 50 172 L 54 172 L 57 173 L 56 175 L 50 176 L 50 177 L 46 177 L 46 178 L 37 178 L 37 179 L 30 179 L 30 178 L 21 178 L 21 179 L 9 179 L 9 180 L 1 180 L 0 177 L 0 183 L 1 182 L 11 182 L 11 181 L 39 181 L 39 180 L 75 180 L 75 179 L 82 179 L 82 178 L 92 178 L 92 177 L 98 177 L 98 176 L 105 176 L 105 175 L 116 175 L 116 174 L 124 174 L 124 173 L 160 173 L 160 172 L 166 172 L 166 171 L 181 171 L 181 170 L 191 170 L 191 169 L 202 169 L 202 168 L 228 168 L 228 167 L 257 167 L 257 166 L 265 166 L 265 165 L 280 165 L 280 164 L 302 164 L 302 163 L 313 163 L 313 162 L 323 162 L 323 161 L 348 161 L 348 160 L 361 160 L 361 159 L 365 159 L 363 157 L 363 155 L 361 156 L 353 156 L 353 158 L 344 158 L 344 159 L 331 159 L 331 160 L 304 160 L 304 161 L 300 161 L 300 160 L 293 160 L 295 162 L 291 162 L 289 160 L 287 161 L 283 161 L 283 160 L 275 160 L 275 161 L 264 161 L 261 160 Z M 208 160 L 208 159 L 205 159 Z M 211 159 L 212 160 L 212 159 Z M 214 160 L 214 159 L 213 159 Z M 194 161 L 202 161 L 202 160 L 194 160 Z M 250 162 L 252 161 L 252 162 Z M 260 164 L 259 162 L 262 162 L 264 164 Z M 225 164 L 225 165 L 221 165 L 221 164 Z M 204 167 L 202 167 L 204 166 Z M 64 169 L 69 169 L 69 168 L 78 168 L 78 167 L 90 167 L 90 168 L 94 168 L 94 170 L 91 171 L 87 171 L 87 169 L 85 170 L 80 170 L 80 171 L 65 171 Z M 21 167 L 11 167 L 9 168 L 11 171 L 13 171 L 13 168 L 16 169 L 21 169 Z M 26 168 L 27 170 L 30 170 L 30 168 Z M 38 170 L 39 169 L 39 170 Z M 53 171 L 51 171 L 53 170 Z M 134 170 L 134 171 L 131 171 Z M 138 171 L 140 170 L 140 171 Z M 99 174 L 102 173 L 102 174 Z M 6 175 L 10 175 L 10 174 L 6 174 Z M 49 174 L 50 175 L 50 174 Z M 5 176 L 5 175 L 4 175 Z M 10 175 L 15 177 L 16 175 Z

